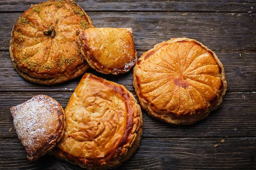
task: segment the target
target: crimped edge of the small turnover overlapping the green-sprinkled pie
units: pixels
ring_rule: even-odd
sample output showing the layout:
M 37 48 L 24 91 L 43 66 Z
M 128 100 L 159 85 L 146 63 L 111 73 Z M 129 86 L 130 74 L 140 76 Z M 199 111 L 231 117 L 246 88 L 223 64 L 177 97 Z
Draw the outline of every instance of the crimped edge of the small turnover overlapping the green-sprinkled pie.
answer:
M 132 34 L 132 33 L 133 33 L 132 28 L 124 28 L 124 29 L 127 29 L 128 31 L 130 31 L 130 32 L 131 32 L 131 36 L 132 36 L 132 38 L 134 39 L 134 36 L 133 36 L 133 34 Z M 82 54 L 83 57 L 86 59 L 87 63 L 90 65 L 91 68 L 93 68 L 94 70 L 96 70 L 96 71 L 98 71 L 98 72 L 100 72 L 100 73 L 103 73 L 103 74 L 113 74 L 113 75 L 124 74 L 124 73 L 127 73 L 128 71 L 130 71 L 131 68 L 135 65 L 135 62 L 134 62 L 134 64 L 131 65 L 131 66 L 129 66 L 128 69 L 126 69 L 126 70 L 118 70 L 118 71 L 109 71 L 107 68 L 98 69 L 98 68 L 95 66 L 95 64 L 94 64 L 93 62 L 91 62 L 90 59 L 88 59 L 88 55 L 91 56 L 91 57 L 93 57 L 93 58 L 95 58 L 95 57 L 94 57 L 94 55 L 93 55 L 90 51 L 85 51 L 85 50 L 83 49 L 83 42 L 81 41 L 81 39 L 79 38 L 79 36 L 77 36 L 77 42 L 79 43 L 79 45 L 80 45 L 80 47 L 81 47 L 81 49 L 80 49 L 81 54 Z M 134 58 L 136 58 L 136 60 L 137 60 L 137 58 L 138 58 L 138 57 L 137 57 L 138 52 L 137 52 L 137 50 L 136 50 L 136 48 L 135 48 L 135 45 L 134 45 L 134 50 L 135 50 L 135 51 L 134 51 Z

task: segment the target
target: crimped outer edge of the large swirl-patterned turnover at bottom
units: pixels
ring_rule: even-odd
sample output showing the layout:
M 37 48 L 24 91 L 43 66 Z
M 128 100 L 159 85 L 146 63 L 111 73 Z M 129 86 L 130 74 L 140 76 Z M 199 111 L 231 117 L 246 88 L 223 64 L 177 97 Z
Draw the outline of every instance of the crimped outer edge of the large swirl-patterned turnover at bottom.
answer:
M 86 73 L 88 75 L 93 75 L 90 73 Z M 94 75 L 93 75 L 94 76 Z M 103 78 L 101 78 L 103 79 Z M 104 79 L 104 81 L 108 81 L 106 79 Z M 111 82 L 111 81 L 108 81 Z M 115 83 L 115 82 L 112 82 Z M 117 84 L 117 83 L 115 83 Z M 119 84 L 117 84 L 119 85 Z M 143 117 L 142 117 L 142 111 L 140 108 L 140 105 L 137 103 L 137 100 L 135 99 L 134 95 L 128 91 L 125 86 L 120 85 L 122 87 L 122 89 L 125 92 L 128 92 L 129 96 L 132 97 L 132 99 L 134 100 L 134 105 L 137 106 L 137 110 L 138 110 L 138 116 L 140 117 L 140 122 L 139 122 L 139 126 L 137 127 L 137 130 L 134 131 L 134 133 L 131 134 L 135 134 L 134 139 L 132 139 L 131 143 L 129 144 L 130 147 L 127 147 L 127 151 L 120 155 L 117 156 L 110 164 L 107 165 L 103 165 L 100 167 L 92 167 L 92 166 L 87 166 L 84 164 L 79 163 L 78 161 L 74 162 L 74 161 L 70 161 L 64 154 L 62 154 L 62 152 L 58 152 L 58 154 L 55 153 L 55 151 L 53 150 L 52 152 L 49 152 L 49 154 L 54 155 L 56 158 L 61 159 L 61 160 L 66 160 L 68 163 L 73 164 L 73 165 L 79 165 L 80 167 L 87 169 L 87 170 L 107 170 L 107 169 L 113 169 L 116 167 L 119 167 L 122 163 L 124 163 L 125 161 L 127 161 L 137 150 L 137 148 L 140 145 L 140 140 L 141 140 L 141 136 L 142 136 L 142 132 L 143 132 Z M 125 143 L 124 145 L 127 145 L 128 143 Z

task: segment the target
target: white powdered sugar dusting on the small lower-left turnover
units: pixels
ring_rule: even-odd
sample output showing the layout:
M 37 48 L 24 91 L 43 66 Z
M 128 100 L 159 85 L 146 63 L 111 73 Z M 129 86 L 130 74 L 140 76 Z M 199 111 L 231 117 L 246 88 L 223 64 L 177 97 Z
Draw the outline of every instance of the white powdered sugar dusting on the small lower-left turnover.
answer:
M 58 102 L 44 95 L 11 108 L 18 138 L 26 151 L 35 152 L 42 147 L 59 125 Z M 52 129 L 53 128 L 53 129 Z

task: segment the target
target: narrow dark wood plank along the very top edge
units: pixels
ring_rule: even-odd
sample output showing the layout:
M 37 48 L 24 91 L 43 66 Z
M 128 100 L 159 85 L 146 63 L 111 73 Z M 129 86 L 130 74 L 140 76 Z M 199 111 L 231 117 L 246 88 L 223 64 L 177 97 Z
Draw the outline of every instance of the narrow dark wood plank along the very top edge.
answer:
M 46 0 L 1 0 L 0 11 L 25 11 L 31 4 Z M 86 11 L 236 11 L 255 12 L 256 4 L 248 0 L 75 0 Z M 214 8 L 213 8 L 214 6 Z

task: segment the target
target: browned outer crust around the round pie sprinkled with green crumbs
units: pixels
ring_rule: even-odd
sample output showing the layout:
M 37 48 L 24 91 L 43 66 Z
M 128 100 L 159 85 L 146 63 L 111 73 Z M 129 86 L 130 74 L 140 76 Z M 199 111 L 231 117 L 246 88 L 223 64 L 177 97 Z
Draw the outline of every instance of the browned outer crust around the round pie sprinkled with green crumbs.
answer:
M 41 2 L 39 4 L 36 4 L 31 8 L 36 8 L 37 6 L 44 6 L 45 3 L 50 3 L 55 1 L 58 2 L 57 0 L 49 0 L 47 2 Z M 83 9 L 80 6 L 76 4 L 76 2 L 74 2 L 73 0 L 61 0 L 60 2 L 71 3 L 73 6 L 76 6 L 76 8 L 79 8 L 81 12 L 84 14 L 84 18 L 87 20 L 90 27 L 94 27 L 90 17 L 83 11 Z M 31 11 L 32 10 L 31 8 L 29 8 L 23 14 L 21 14 L 20 17 L 22 17 L 29 10 Z M 46 85 L 57 84 L 57 83 L 61 83 L 61 82 L 79 77 L 81 74 L 83 74 L 85 71 L 87 71 L 90 68 L 90 66 L 85 60 L 82 60 L 80 64 L 77 64 L 75 66 L 74 65 L 70 66 L 73 68 L 70 68 L 68 71 L 59 72 L 58 74 L 56 74 L 55 71 L 53 72 L 48 71 L 47 73 L 37 73 L 25 67 L 20 67 L 19 64 L 17 64 L 17 57 L 13 53 L 15 51 L 14 43 L 15 42 L 20 43 L 17 41 L 17 38 L 13 36 L 13 32 L 15 31 L 16 25 L 17 25 L 17 21 L 12 29 L 9 52 L 10 52 L 10 57 L 12 59 L 13 66 L 15 67 L 17 72 L 21 75 L 21 77 L 23 77 L 24 79 L 30 82 L 38 83 L 38 84 L 46 84 Z M 81 58 L 83 57 L 81 56 Z

